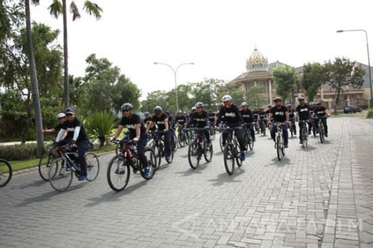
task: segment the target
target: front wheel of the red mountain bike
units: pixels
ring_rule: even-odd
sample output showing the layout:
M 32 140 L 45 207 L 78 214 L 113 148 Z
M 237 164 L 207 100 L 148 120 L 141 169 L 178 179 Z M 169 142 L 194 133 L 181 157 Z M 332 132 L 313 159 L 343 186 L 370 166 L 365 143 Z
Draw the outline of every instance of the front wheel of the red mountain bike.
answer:
M 114 156 L 107 165 L 107 183 L 114 191 L 121 191 L 127 186 L 129 174 L 131 171 L 123 154 Z

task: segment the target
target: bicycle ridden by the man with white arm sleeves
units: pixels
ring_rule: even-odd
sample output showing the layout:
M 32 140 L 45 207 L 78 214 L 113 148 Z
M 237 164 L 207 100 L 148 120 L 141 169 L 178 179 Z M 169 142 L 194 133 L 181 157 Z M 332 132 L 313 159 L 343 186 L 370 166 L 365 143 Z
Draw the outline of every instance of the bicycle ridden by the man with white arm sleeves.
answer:
M 62 192 L 70 187 L 73 174 L 78 178 L 82 173 L 80 166 L 75 162 L 78 157 L 77 152 L 73 152 L 69 145 L 59 146 L 56 150 L 60 158 L 55 159 L 49 168 L 49 182 L 53 189 Z M 93 152 L 87 152 L 84 157 L 87 161 L 88 181 L 94 181 L 100 171 L 98 157 Z

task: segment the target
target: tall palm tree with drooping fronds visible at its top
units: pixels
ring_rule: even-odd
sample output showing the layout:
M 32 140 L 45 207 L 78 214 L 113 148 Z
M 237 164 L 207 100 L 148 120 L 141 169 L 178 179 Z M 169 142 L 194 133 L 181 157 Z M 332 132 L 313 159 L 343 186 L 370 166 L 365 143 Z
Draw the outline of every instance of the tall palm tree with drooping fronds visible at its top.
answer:
M 62 13 L 63 14 L 63 55 L 65 60 L 65 81 L 64 81 L 64 102 L 65 107 L 70 106 L 69 99 L 69 72 L 68 72 L 68 24 L 67 24 L 67 14 L 66 14 L 66 0 L 53 0 L 52 4 L 48 7 L 50 9 L 50 14 L 55 18 Z M 91 1 L 84 1 L 83 10 L 88 14 L 96 17 L 97 20 L 101 18 L 102 9 L 95 3 Z M 70 3 L 70 12 L 72 13 L 72 20 L 75 21 L 80 18 L 79 9 L 74 1 Z

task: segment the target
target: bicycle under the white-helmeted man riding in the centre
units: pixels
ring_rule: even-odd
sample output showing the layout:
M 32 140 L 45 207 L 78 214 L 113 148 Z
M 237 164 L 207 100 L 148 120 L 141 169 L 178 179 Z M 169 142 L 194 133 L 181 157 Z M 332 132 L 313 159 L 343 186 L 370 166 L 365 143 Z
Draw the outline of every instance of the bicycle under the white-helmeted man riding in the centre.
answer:
M 239 128 L 224 128 L 224 130 L 228 130 L 229 132 L 224 146 L 224 167 L 228 175 L 233 174 L 235 161 L 237 162 L 238 167 L 242 166 L 242 161 L 240 158 L 241 149 L 239 148 L 236 136 L 233 135 L 237 129 Z

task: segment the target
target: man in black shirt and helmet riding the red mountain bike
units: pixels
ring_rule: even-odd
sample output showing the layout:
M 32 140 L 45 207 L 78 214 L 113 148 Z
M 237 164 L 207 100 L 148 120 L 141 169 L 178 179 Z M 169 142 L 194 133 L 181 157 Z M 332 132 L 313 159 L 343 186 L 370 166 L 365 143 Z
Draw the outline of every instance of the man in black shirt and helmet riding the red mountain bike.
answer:
M 115 141 L 120 135 L 120 132 L 122 132 L 123 127 L 126 127 L 129 131 L 129 138 L 137 144 L 138 156 L 142 167 L 145 168 L 145 176 L 150 177 L 153 168 L 149 166 L 148 160 L 144 155 L 145 146 L 148 141 L 148 134 L 145 132 L 144 122 L 142 122 L 140 115 L 133 112 L 134 106 L 131 103 L 123 104 L 121 109 L 123 116 L 112 141 Z M 122 141 L 120 141 L 120 145 L 121 147 L 123 146 Z M 115 173 L 118 173 L 118 171 L 116 170 Z

